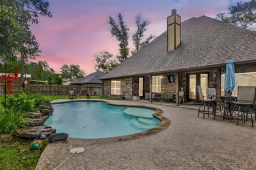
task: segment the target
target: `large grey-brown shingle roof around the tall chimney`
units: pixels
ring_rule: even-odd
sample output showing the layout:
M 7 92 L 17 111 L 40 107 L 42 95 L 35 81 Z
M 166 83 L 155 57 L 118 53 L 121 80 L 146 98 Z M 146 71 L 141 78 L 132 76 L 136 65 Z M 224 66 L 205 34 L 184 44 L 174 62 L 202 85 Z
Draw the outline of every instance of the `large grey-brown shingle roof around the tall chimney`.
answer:
M 236 63 L 256 61 L 256 31 L 233 26 L 210 17 L 182 22 L 182 43 L 166 51 L 166 32 L 116 66 L 102 79 L 175 72 L 225 65 L 228 58 Z

